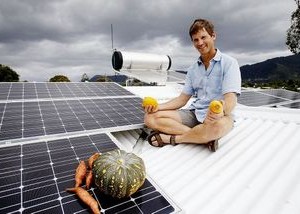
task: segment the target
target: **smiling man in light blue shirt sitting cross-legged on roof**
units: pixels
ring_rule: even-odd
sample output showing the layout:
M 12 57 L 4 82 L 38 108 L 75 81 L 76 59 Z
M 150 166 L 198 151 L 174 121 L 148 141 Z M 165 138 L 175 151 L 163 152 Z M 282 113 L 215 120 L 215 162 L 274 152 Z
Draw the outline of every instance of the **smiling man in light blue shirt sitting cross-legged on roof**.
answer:
M 216 151 L 218 139 L 233 128 L 231 113 L 241 93 L 240 69 L 236 59 L 215 48 L 216 32 L 211 22 L 196 19 L 189 34 L 200 57 L 188 68 L 178 97 L 157 107 L 145 107 L 145 124 L 153 129 L 147 139 L 158 147 L 196 143 Z M 195 101 L 181 109 L 194 95 Z M 221 100 L 222 113 L 208 110 L 212 100 Z

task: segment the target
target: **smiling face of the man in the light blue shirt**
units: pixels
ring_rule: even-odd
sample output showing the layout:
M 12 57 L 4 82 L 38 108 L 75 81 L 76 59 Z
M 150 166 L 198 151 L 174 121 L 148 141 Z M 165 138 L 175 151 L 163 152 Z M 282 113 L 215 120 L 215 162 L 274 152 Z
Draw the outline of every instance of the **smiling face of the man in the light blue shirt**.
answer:
M 215 39 L 216 35 L 209 35 L 205 28 L 192 35 L 192 42 L 194 47 L 199 51 L 200 55 L 214 53 Z

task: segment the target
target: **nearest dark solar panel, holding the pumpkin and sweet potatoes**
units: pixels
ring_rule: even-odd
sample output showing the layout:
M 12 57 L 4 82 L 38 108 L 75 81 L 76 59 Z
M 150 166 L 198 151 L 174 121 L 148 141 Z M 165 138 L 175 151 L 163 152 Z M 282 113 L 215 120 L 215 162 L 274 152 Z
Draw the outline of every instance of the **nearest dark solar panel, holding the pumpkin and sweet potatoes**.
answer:
M 117 148 L 107 134 L 82 135 L 0 148 L 0 213 L 88 213 L 75 195 L 80 160 L 94 152 Z M 96 188 L 103 213 L 171 213 L 176 206 L 152 181 L 146 179 L 130 198 L 113 199 Z

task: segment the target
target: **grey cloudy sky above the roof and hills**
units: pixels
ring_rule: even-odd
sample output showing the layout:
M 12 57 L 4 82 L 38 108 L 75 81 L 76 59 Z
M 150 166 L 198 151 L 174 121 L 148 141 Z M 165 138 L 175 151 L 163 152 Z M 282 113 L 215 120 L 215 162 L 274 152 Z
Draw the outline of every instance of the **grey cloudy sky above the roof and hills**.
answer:
M 213 21 L 216 46 L 253 64 L 291 55 L 285 45 L 295 0 L 0 0 L 0 64 L 20 80 L 57 74 L 80 81 L 113 74 L 114 48 L 169 55 L 172 69 L 198 57 L 188 35 L 196 18 Z

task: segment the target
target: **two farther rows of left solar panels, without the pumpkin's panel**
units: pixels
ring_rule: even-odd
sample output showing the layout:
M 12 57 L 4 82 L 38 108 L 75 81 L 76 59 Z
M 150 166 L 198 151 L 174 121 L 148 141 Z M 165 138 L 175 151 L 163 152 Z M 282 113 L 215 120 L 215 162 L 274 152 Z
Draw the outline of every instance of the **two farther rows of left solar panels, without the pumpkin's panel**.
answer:
M 0 143 L 143 125 L 141 98 L 115 83 L 1 83 L 0 91 Z

